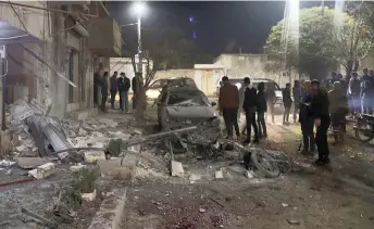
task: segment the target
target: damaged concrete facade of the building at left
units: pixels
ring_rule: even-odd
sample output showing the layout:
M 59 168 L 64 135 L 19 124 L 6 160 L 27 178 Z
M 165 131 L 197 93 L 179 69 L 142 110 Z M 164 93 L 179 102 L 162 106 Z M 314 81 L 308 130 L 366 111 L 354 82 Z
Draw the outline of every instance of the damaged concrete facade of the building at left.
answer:
M 22 2 L 25 4 L 40 4 L 47 2 Z M 55 8 L 48 2 L 49 8 Z M 9 103 L 18 98 L 36 99 L 45 109 L 51 105 L 51 115 L 63 117 L 67 112 L 94 107 L 94 58 L 96 64 L 103 63 L 109 71 L 109 58 L 95 56 L 88 50 L 87 39 L 74 33 L 73 29 L 64 31 L 66 14 L 14 7 L 27 26 L 30 35 L 39 38 L 37 43 L 23 43 L 45 63 L 27 53 L 18 44 L 8 46 L 9 73 L 7 89 Z M 11 12 L 11 13 L 10 13 Z M 0 4 L 0 20 L 23 29 L 18 17 L 10 5 Z M 78 54 L 74 58 L 74 100 L 68 102 L 70 53 L 74 50 Z

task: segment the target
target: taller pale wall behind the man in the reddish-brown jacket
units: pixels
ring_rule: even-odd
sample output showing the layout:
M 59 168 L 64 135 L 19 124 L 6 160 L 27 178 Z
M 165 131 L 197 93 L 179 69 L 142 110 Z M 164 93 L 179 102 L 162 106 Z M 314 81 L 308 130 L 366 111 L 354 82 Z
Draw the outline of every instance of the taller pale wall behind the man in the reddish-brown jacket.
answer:
M 213 64 L 223 65 L 228 77 L 269 78 L 276 81 L 280 87 L 285 87 L 287 82 L 294 82 L 295 79 L 299 78 L 296 73 L 286 77 L 282 76 L 280 71 L 278 74 L 270 73 L 265 68 L 266 63 L 266 54 L 221 54 Z

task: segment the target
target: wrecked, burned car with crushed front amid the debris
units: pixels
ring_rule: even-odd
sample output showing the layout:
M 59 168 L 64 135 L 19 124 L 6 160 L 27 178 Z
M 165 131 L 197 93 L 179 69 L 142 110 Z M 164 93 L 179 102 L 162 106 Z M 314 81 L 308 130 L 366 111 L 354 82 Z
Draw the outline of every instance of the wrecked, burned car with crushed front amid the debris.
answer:
M 194 87 L 172 87 L 160 94 L 158 122 L 163 131 L 198 126 L 194 133 L 174 138 L 172 147 L 175 153 L 186 152 L 187 144 L 184 142 L 203 148 L 214 144 L 221 138 L 220 119 L 214 105 L 202 91 Z

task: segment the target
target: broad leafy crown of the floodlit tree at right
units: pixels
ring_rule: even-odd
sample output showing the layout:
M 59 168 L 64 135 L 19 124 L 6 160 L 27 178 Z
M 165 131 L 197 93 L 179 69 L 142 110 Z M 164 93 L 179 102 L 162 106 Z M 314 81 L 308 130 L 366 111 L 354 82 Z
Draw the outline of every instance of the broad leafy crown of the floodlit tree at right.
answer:
M 295 40 L 284 36 L 289 17 L 274 26 L 267 38 L 269 53 L 285 67 L 321 78 L 323 69 L 344 65 L 349 76 L 372 46 L 367 26 L 347 13 L 316 7 L 302 9 L 299 15 L 299 47 L 295 48 Z

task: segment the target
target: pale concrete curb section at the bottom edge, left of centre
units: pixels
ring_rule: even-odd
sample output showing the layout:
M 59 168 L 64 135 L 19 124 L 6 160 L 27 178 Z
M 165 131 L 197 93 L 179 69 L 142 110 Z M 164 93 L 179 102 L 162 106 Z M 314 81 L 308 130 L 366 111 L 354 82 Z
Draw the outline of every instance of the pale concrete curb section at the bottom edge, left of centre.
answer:
M 88 229 L 120 229 L 126 203 L 125 189 L 115 189 L 107 196 L 96 213 Z

